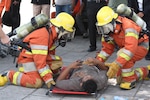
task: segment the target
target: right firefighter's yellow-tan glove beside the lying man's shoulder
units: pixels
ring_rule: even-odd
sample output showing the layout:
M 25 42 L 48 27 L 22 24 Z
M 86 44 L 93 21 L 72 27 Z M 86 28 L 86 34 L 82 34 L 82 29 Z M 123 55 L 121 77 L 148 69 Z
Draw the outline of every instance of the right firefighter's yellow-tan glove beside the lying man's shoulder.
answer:
M 105 65 L 109 67 L 109 70 L 107 72 L 108 78 L 114 78 L 118 73 L 120 66 L 115 62 L 105 63 Z

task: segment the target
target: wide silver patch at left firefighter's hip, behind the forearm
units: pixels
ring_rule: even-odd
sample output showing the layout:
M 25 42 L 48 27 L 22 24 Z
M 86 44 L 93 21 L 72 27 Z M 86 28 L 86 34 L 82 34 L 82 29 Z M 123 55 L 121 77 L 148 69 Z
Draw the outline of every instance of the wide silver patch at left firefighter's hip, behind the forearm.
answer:
M 22 67 L 24 68 L 24 72 L 37 71 L 34 62 L 22 63 Z

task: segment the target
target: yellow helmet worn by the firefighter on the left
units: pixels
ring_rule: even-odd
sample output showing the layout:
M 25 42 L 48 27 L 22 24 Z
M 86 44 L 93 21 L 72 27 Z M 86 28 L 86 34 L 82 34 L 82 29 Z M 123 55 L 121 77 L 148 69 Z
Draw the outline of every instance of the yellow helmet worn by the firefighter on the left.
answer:
M 66 12 L 59 13 L 56 18 L 50 19 L 50 22 L 56 27 L 63 27 L 66 31 L 74 31 L 74 18 Z

